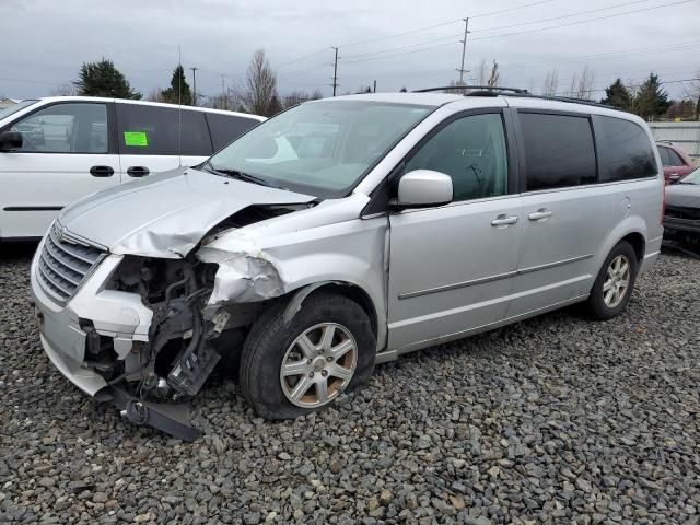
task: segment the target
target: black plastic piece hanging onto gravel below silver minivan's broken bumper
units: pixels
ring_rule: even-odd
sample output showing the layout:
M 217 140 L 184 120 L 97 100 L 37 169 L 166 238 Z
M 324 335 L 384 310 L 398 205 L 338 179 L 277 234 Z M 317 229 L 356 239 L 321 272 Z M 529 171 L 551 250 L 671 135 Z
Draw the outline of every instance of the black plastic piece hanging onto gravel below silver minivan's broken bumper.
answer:
M 105 394 L 112 397 L 108 400 L 121 411 L 121 416 L 133 424 L 153 427 L 183 441 L 195 441 L 201 435 L 201 431 L 194 428 L 189 420 L 189 404 L 143 401 L 114 387 L 109 387 Z

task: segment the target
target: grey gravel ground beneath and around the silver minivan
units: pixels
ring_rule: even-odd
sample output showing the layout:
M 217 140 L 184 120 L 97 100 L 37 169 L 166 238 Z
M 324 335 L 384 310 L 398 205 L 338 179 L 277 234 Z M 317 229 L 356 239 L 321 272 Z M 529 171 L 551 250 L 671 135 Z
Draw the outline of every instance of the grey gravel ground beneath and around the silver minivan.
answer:
M 0 523 L 698 523 L 700 260 L 662 256 L 616 320 L 418 352 L 292 422 L 214 377 L 187 444 L 54 370 L 30 256 L 0 256 Z

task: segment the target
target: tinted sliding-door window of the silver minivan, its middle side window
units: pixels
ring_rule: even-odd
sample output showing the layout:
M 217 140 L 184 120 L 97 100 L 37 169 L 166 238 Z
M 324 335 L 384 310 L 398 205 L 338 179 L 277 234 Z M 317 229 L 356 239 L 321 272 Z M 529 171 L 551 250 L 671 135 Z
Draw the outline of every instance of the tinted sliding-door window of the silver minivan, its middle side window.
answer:
M 521 113 L 527 190 L 597 180 L 591 122 L 585 117 Z

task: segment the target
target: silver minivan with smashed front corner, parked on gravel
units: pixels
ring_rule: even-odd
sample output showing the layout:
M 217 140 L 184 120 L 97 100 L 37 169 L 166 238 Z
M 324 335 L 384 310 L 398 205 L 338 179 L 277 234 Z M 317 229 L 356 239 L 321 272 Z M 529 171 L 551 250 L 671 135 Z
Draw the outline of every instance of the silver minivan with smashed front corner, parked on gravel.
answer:
M 407 352 L 579 302 L 619 315 L 662 242 L 646 125 L 503 93 L 304 103 L 66 208 L 32 264 L 46 353 L 191 439 L 156 402 L 197 395 L 220 359 L 287 419 Z

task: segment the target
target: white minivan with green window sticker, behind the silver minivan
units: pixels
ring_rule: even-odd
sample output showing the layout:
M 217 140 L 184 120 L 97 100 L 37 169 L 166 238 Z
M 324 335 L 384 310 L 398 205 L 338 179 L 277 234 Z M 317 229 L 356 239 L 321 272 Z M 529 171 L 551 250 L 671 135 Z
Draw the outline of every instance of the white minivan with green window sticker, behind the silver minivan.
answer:
M 180 133 L 182 119 L 182 133 Z M 60 96 L 0 110 L 0 241 L 40 238 L 59 210 L 136 177 L 202 162 L 262 117 Z M 182 148 L 180 148 L 182 144 Z

